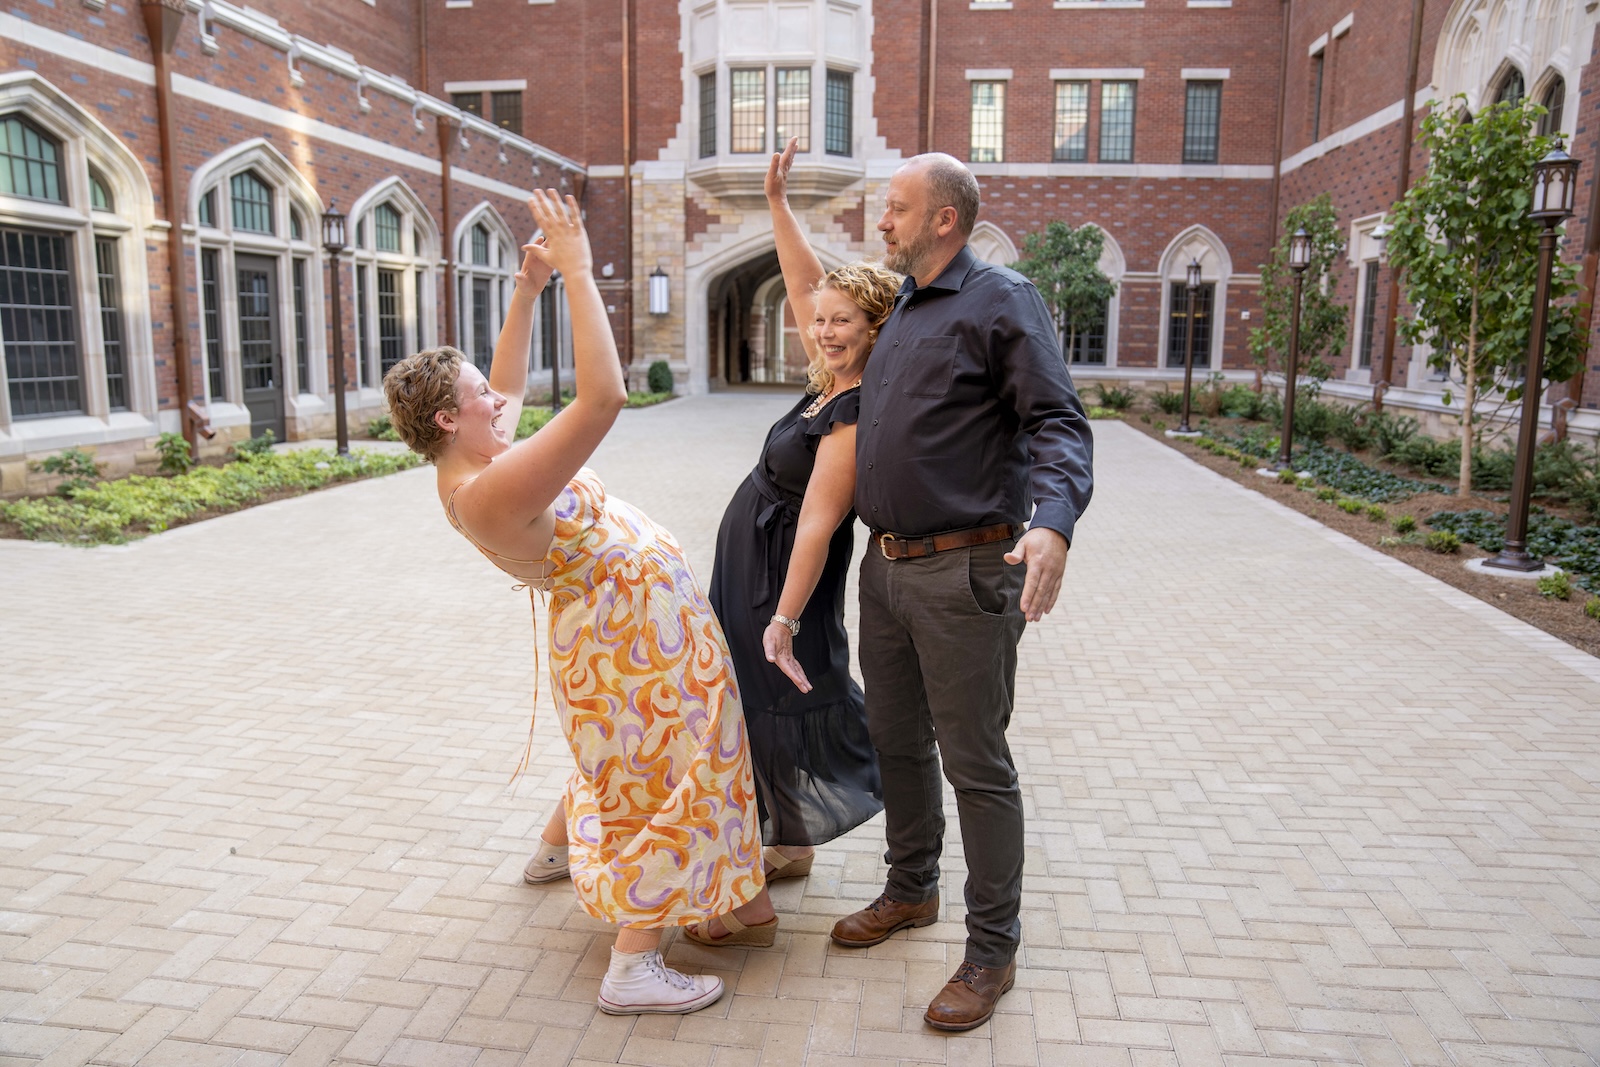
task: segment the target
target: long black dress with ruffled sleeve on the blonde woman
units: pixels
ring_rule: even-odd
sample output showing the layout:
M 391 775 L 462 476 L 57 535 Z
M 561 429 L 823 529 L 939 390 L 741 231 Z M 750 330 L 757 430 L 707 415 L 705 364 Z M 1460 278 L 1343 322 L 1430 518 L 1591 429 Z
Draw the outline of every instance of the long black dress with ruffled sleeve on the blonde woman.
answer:
M 816 592 L 800 613 L 795 659 L 811 680 L 802 693 L 766 662 L 762 635 L 789 573 L 800 502 L 816 450 L 837 426 L 854 426 L 861 392 L 850 389 L 811 416 L 800 402 L 766 432 L 762 458 L 733 494 L 717 533 L 710 605 L 728 635 L 755 766 L 762 840 L 821 845 L 883 809 L 878 761 L 867 737 L 866 697 L 850 677 L 845 577 L 856 514 L 834 531 Z

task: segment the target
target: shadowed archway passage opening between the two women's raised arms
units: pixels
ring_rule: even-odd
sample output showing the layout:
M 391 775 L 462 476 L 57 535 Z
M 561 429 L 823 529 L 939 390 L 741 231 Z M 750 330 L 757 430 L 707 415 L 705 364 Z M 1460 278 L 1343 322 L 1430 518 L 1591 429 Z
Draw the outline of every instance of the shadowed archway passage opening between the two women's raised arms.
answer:
M 805 381 L 805 349 L 784 298 L 776 251 L 752 256 L 710 280 L 706 339 L 712 389 Z

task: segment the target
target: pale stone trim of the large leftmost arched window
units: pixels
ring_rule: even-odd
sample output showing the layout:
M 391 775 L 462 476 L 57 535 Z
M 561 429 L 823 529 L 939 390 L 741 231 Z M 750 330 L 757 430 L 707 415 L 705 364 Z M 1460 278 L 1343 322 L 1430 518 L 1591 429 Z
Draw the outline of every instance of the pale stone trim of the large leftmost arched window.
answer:
M 80 440 L 110 442 L 154 432 L 158 392 L 155 344 L 149 304 L 146 242 L 162 240 L 165 222 L 155 218 L 149 176 L 141 160 L 93 114 L 32 70 L 0 77 L 0 115 L 19 115 L 58 146 L 64 203 L 0 195 L 8 226 L 54 232 L 67 238 L 72 264 L 72 317 L 80 358 L 80 413 L 11 418 L 5 360 L 0 358 L 0 456 L 27 451 L 27 438 L 72 434 Z M 93 173 L 93 179 L 91 179 Z M 94 206 L 91 181 L 106 194 L 106 210 Z M 101 314 L 101 272 L 110 242 L 110 266 L 118 286 L 117 326 L 122 355 L 122 405 L 112 410 L 106 378 L 106 338 Z

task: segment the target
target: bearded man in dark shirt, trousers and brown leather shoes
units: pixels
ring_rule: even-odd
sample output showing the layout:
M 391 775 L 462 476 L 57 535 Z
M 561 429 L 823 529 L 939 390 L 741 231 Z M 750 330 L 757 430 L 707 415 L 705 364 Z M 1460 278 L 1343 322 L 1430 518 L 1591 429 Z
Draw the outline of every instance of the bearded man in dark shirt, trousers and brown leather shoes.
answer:
M 890 179 L 885 266 L 907 275 L 861 382 L 861 673 L 883 773 L 883 894 L 834 941 L 939 918 L 944 776 L 966 853 L 966 952 L 928 1005 L 970 1030 L 1016 981 L 1022 795 L 1005 731 L 1016 645 L 1056 603 L 1090 502 L 1093 438 L 1038 290 L 966 238 L 978 181 L 944 154 Z M 1032 506 L 1032 520 L 1029 512 Z

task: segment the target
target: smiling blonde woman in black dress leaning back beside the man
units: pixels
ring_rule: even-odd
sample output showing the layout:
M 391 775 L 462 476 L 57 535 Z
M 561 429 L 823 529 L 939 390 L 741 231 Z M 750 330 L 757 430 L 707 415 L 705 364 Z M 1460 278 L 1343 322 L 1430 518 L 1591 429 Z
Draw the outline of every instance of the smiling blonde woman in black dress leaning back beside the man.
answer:
M 883 809 L 861 686 L 850 677 L 845 579 L 854 547 L 861 373 L 901 277 L 875 264 L 822 272 L 789 210 L 795 142 L 766 171 L 778 262 L 810 358 L 810 387 L 773 424 L 717 534 L 710 603 L 744 702 L 765 870 L 803 877 L 811 849 Z M 685 931 L 707 945 L 765 947 L 778 918 L 763 889 Z

